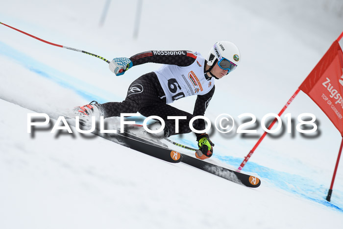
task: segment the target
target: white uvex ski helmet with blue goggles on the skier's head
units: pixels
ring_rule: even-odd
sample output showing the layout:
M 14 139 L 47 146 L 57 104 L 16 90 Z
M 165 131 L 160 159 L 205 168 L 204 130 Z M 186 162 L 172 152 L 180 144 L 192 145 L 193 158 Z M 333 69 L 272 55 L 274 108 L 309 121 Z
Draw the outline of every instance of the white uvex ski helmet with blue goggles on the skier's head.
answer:
M 235 44 L 229 41 L 219 41 L 208 53 L 207 65 L 211 66 L 208 72 L 212 70 L 215 63 L 218 63 L 221 69 L 227 69 L 227 73 L 232 72 L 240 60 L 241 53 Z

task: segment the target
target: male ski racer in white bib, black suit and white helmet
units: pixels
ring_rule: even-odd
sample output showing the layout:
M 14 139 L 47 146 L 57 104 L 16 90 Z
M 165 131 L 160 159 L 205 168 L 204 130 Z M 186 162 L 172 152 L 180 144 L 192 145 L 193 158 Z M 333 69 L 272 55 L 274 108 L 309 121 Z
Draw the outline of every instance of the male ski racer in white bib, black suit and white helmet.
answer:
M 98 102 L 76 108 L 76 113 L 84 118 L 89 116 L 113 117 L 121 113 L 139 112 L 145 117 L 159 116 L 165 121 L 163 131 L 155 137 L 164 138 L 174 134 L 189 133 L 190 120 L 203 116 L 215 91 L 215 79 L 232 72 L 240 62 L 240 51 L 231 42 L 221 41 L 211 48 L 207 60 L 198 52 L 191 51 L 146 51 L 130 58 L 114 58 L 110 70 L 116 76 L 123 75 L 133 66 L 148 62 L 163 66 L 154 72 L 140 76 L 133 81 L 123 102 Z M 197 95 L 193 114 L 179 110 L 169 103 Z M 175 133 L 175 120 L 168 116 L 185 116 L 179 120 L 179 132 Z M 156 123 L 159 125 L 159 123 Z M 205 129 L 205 121 L 193 122 L 197 130 Z M 151 128 L 150 128 L 151 129 Z M 214 144 L 206 133 L 195 133 L 199 151 L 196 157 L 206 159 L 212 156 Z

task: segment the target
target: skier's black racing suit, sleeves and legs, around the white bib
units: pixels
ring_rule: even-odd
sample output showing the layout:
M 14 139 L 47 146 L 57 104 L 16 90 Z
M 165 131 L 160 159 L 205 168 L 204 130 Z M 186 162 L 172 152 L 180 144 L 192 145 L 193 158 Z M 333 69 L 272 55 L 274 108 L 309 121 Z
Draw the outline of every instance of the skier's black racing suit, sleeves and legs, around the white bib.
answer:
M 160 55 L 153 54 L 153 51 L 138 53 L 130 57 L 133 66 L 145 64 L 148 62 L 171 64 L 180 67 L 186 67 L 194 63 L 196 59 L 191 55 Z M 155 52 L 156 53 L 156 52 Z M 205 73 L 204 73 L 205 74 Z M 207 75 L 205 77 L 208 78 Z M 140 87 L 143 88 L 140 88 Z M 137 89 L 138 87 L 138 89 Z M 141 90 L 140 93 L 135 93 Z M 154 72 L 140 76 L 133 81 L 128 89 L 126 98 L 123 102 L 107 102 L 101 104 L 106 117 L 120 116 L 121 113 L 139 112 L 145 117 L 156 115 L 161 117 L 166 124 L 165 136 L 174 134 L 189 133 L 192 130 L 189 127 L 190 120 L 195 116 L 203 116 L 215 91 L 215 86 L 205 95 L 198 95 L 193 114 L 179 110 L 171 105 L 166 104 L 165 93 L 160 85 L 157 75 Z M 167 119 L 167 116 L 186 116 L 187 119 L 179 120 L 179 132 L 175 133 L 175 120 Z M 197 130 L 205 129 L 205 121 L 197 119 L 193 123 Z M 200 134 L 196 133 L 196 136 Z

